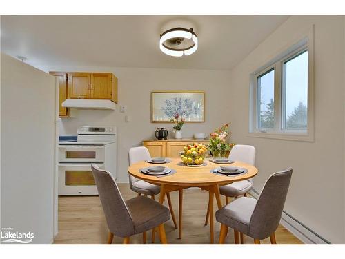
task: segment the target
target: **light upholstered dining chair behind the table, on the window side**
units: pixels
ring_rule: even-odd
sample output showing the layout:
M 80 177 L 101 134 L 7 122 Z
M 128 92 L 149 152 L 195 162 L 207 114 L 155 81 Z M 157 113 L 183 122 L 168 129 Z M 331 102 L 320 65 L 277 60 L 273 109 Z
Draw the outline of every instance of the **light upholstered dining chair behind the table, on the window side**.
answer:
M 255 164 L 255 147 L 250 145 L 235 145 L 230 152 L 229 159 L 240 161 L 246 164 Z M 247 196 L 247 192 L 253 188 L 253 179 L 233 182 L 224 186 L 219 186 L 219 193 L 225 196 L 226 204 L 229 203 L 229 197 L 237 198 L 240 195 Z M 206 213 L 205 225 L 208 224 L 209 211 Z M 241 243 L 243 243 L 243 234 L 241 233 Z

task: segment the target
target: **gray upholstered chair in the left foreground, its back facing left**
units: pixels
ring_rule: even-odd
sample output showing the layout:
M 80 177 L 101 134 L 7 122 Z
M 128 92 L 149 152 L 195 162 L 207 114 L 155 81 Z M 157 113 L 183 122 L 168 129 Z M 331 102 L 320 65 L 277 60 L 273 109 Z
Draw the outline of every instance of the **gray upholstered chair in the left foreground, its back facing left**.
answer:
M 91 167 L 110 231 L 108 244 L 112 243 L 114 235 L 124 238 L 123 243 L 128 244 L 130 236 L 138 233 L 143 233 L 145 244 L 146 231 L 155 227 L 159 227 L 161 243 L 166 244 L 164 222 L 170 219 L 169 209 L 143 196 L 125 202 L 112 175 L 96 164 Z

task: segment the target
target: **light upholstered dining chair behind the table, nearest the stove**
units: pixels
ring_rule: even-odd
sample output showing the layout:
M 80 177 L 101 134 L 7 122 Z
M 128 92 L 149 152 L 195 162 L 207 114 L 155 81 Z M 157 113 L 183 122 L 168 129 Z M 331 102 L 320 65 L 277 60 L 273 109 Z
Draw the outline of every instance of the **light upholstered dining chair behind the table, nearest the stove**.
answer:
M 150 152 L 148 152 L 148 148 L 146 148 L 145 146 L 130 148 L 130 151 L 128 153 L 128 160 L 129 160 L 130 165 L 135 164 L 139 161 L 150 160 L 150 159 L 151 159 Z M 130 189 L 138 193 L 138 196 L 140 196 L 141 194 L 143 194 L 144 196 L 150 195 L 151 198 L 155 200 L 155 195 L 161 192 L 161 186 L 150 184 L 149 182 L 145 182 L 144 180 L 135 178 L 129 173 L 128 175 L 129 175 Z M 177 229 L 177 223 L 176 223 L 174 211 L 172 209 L 170 193 L 166 193 L 166 198 L 168 200 L 168 206 L 170 209 L 172 222 L 174 222 L 175 229 Z M 155 242 L 155 231 L 152 231 L 152 242 Z

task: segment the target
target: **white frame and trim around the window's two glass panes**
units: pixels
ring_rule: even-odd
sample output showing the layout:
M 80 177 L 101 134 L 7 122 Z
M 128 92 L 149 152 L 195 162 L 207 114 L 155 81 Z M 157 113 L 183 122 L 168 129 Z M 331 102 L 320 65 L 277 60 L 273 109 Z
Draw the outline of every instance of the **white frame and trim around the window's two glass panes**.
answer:
M 309 30 L 307 35 L 297 41 L 296 44 L 290 45 L 284 52 L 276 55 L 274 59 L 266 63 L 255 73 L 250 75 L 250 122 L 249 122 L 249 137 L 265 137 L 282 140 L 300 140 L 313 142 L 315 140 L 315 68 L 314 68 L 314 27 Z M 287 129 L 284 128 L 285 120 L 285 96 L 284 96 L 284 64 L 308 51 L 308 108 L 307 116 L 308 123 L 306 130 L 301 129 Z M 275 111 L 275 126 L 271 129 L 259 128 L 259 89 L 257 79 L 274 69 L 275 73 L 275 93 L 274 93 L 274 111 Z

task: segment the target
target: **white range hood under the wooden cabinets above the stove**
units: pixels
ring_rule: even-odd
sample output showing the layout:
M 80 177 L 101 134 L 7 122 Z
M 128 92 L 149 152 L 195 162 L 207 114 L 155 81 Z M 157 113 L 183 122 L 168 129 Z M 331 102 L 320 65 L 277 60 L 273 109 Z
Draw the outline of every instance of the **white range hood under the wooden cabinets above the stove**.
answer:
M 66 99 L 61 106 L 90 110 L 115 110 L 115 102 L 100 99 Z

